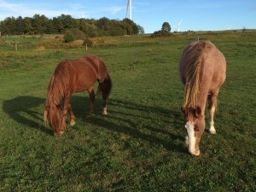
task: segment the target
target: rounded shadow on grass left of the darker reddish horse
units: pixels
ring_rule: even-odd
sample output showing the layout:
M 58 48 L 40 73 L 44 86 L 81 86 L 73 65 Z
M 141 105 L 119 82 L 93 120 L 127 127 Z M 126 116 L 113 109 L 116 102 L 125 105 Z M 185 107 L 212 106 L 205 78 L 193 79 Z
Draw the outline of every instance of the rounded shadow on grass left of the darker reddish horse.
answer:
M 3 111 L 21 125 L 52 135 L 52 131 L 44 127 L 43 113 L 38 108 L 45 102 L 44 98 L 35 96 L 17 96 L 3 101 Z

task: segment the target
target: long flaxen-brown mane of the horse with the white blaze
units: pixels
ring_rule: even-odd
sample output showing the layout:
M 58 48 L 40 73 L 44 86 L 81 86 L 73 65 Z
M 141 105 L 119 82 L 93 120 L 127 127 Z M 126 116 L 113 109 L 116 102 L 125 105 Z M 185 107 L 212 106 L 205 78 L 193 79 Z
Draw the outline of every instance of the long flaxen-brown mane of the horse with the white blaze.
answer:
M 183 106 L 188 108 L 196 108 L 197 95 L 200 91 L 200 74 L 203 61 L 202 51 L 206 44 L 207 42 L 204 41 L 189 44 L 183 52 L 186 53 L 184 69 L 186 79 L 186 97 Z

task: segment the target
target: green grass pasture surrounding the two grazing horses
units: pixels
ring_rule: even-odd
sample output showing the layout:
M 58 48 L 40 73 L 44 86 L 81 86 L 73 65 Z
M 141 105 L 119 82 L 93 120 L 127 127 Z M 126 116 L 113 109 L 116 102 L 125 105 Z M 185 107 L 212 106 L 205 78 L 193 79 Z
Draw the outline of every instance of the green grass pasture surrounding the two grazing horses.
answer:
M 198 38 L 224 53 L 227 79 L 217 134 L 206 131 L 194 157 L 183 143 L 177 63 Z M 256 191 L 256 32 L 97 38 L 87 51 L 55 41 L 0 38 L 0 191 Z M 59 61 L 84 54 L 107 63 L 108 116 L 96 98 L 86 119 L 88 94 L 76 93 L 77 124 L 55 138 L 43 121 L 49 79 Z

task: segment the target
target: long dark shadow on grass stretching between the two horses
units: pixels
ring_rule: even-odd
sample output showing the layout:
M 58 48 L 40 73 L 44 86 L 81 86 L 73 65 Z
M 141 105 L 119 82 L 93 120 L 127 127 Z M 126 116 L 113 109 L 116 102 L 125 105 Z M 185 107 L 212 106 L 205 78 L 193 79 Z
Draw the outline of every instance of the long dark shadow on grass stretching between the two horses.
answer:
M 165 121 L 164 125 L 172 124 L 174 129 L 182 129 L 183 120 L 181 120 L 182 116 L 178 110 L 150 107 L 131 101 L 110 98 L 108 100 L 108 115 L 102 117 L 100 114 L 102 111 L 102 102 L 98 101 L 101 100 L 100 98 L 96 98 L 96 115 L 89 119 L 85 119 L 84 109 L 83 113 L 81 113 L 81 108 L 79 107 L 83 105 L 81 101 L 84 100 L 84 98 L 79 97 L 80 96 L 73 96 L 73 112 L 77 118 L 85 120 L 90 125 L 96 125 L 102 127 L 102 129 L 123 133 L 130 137 L 142 139 L 148 143 L 161 145 L 170 151 L 179 151 L 187 154 L 187 150 L 184 148 L 183 143 L 177 143 L 177 140 L 183 141 L 184 137 L 176 133 L 177 131 L 168 130 L 168 128 L 166 129 L 165 127 L 158 127 L 159 125 L 154 123 L 159 119 L 151 119 L 148 115 L 148 113 L 154 113 L 154 116 L 161 117 L 160 120 Z M 133 111 L 137 111 L 137 113 L 133 113 Z M 137 126 L 137 120 L 133 119 L 143 119 L 150 123 L 146 123 L 143 125 L 143 128 L 140 129 L 140 127 Z M 161 138 L 160 135 L 164 135 L 165 137 Z

